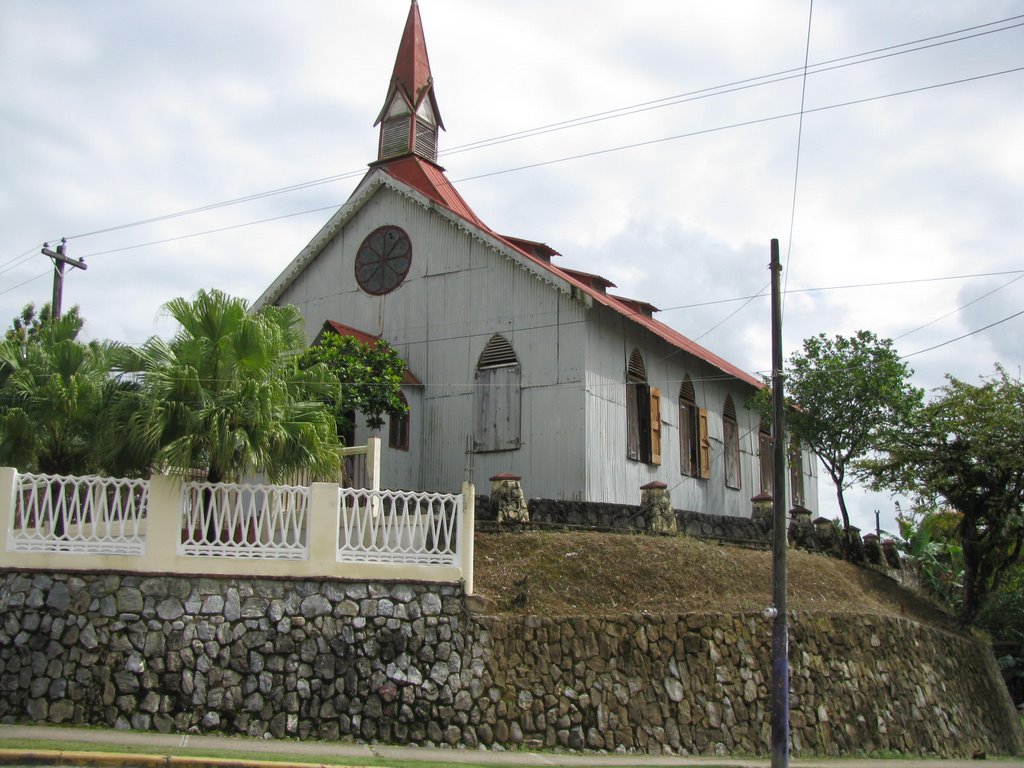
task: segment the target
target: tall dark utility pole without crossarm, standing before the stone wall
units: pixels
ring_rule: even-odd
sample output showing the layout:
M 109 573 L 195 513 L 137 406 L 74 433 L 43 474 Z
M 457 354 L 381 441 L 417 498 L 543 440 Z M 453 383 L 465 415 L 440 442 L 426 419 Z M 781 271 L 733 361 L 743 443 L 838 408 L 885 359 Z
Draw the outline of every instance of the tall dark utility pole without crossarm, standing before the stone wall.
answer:
M 771 407 L 773 449 L 771 768 L 790 765 L 790 627 L 786 617 L 785 401 L 782 396 L 782 302 L 778 240 L 771 241 Z

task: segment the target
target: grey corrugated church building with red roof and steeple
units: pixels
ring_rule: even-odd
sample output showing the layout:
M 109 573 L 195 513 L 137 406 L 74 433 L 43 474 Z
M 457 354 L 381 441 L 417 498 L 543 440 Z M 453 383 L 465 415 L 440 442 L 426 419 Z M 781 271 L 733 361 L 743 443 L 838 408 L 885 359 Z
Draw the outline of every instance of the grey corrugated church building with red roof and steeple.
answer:
M 366 176 L 256 307 L 295 304 L 309 341 L 383 339 L 407 361 L 409 414 L 378 435 L 381 486 L 485 493 L 511 473 L 527 497 L 639 504 L 660 481 L 677 509 L 749 517 L 772 482 L 771 436 L 745 408 L 760 382 L 477 217 L 437 164 L 415 0 L 376 126 Z M 355 441 L 372 434 L 360 420 Z M 788 504 L 813 511 L 816 460 L 790 457 Z

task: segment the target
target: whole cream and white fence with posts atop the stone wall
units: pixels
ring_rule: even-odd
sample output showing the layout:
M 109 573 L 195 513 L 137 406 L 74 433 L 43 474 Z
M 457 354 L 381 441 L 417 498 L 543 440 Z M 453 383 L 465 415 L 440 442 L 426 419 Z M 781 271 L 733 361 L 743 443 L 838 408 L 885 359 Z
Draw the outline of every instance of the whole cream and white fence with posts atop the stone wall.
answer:
M 18 474 L 0 467 L 0 567 L 464 582 L 461 495 Z

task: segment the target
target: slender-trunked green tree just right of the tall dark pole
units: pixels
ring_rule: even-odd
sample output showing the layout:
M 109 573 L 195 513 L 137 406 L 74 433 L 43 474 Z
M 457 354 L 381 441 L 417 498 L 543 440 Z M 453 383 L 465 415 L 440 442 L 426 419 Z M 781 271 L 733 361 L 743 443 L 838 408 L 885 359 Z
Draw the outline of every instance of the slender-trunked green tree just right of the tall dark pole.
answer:
M 900 360 L 891 339 L 869 331 L 851 337 L 824 334 L 804 340 L 788 360 L 783 389 L 786 427 L 809 445 L 836 485 L 843 527 L 850 528 L 844 492 L 862 477 L 856 462 L 878 450 L 885 435 L 905 422 L 924 392 L 909 383 L 913 372 Z M 771 388 L 754 406 L 771 417 Z

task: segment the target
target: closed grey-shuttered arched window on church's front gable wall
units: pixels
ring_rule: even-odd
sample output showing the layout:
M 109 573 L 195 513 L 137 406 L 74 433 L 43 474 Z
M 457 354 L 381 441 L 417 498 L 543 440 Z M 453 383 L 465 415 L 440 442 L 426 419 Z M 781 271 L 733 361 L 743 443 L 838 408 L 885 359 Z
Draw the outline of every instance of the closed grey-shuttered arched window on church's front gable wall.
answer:
M 522 444 L 520 381 L 515 350 L 495 334 L 476 364 L 474 451 L 514 451 Z

